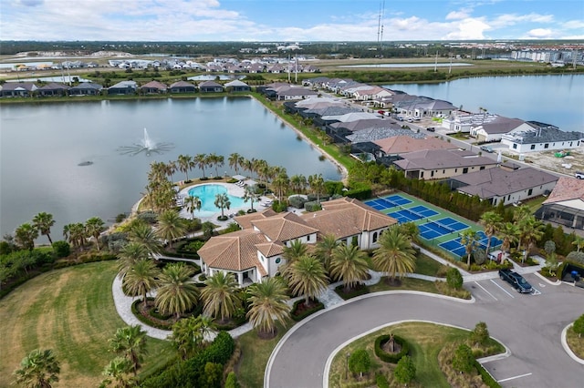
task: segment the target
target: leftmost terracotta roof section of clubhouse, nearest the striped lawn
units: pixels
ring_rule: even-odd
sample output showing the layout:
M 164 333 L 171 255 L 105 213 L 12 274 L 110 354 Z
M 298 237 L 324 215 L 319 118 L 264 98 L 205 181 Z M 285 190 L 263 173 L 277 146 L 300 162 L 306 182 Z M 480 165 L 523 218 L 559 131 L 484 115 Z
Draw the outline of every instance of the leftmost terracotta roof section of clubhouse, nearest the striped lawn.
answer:
M 201 260 L 212 268 L 227 271 L 245 271 L 257 268 L 266 275 L 264 266 L 257 259 L 256 244 L 266 243 L 266 237 L 255 230 L 237 230 L 214 236 L 198 250 Z

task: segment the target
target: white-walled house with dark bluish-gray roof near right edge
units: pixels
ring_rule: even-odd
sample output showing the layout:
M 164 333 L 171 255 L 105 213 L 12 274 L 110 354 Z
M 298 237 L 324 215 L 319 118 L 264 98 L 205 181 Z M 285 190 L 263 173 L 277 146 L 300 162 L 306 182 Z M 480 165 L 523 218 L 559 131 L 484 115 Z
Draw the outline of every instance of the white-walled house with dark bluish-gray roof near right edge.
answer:
M 516 128 L 503 135 L 501 144 L 506 144 L 509 150 L 525 153 L 579 148 L 584 139 L 582 132 L 564 132 L 538 121 L 527 121 L 527 124 L 528 128 Z

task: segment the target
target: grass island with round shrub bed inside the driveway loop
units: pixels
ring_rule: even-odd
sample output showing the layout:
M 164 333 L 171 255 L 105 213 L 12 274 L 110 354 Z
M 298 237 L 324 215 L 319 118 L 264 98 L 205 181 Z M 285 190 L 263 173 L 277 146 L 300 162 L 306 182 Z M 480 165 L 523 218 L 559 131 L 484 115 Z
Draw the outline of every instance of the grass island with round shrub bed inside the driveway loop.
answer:
M 401 336 L 410 343 L 410 356 L 416 366 L 415 381 L 408 384 L 410 387 L 450 387 L 446 381 L 440 366 L 438 365 L 438 353 L 448 343 L 464 342 L 468 338 L 468 332 L 448 326 L 441 326 L 432 323 L 408 322 L 381 329 L 373 332 L 355 342 L 351 342 L 347 347 L 339 351 L 335 356 L 331 366 L 329 377 L 330 387 L 363 387 L 375 386 L 375 372 L 391 375 L 393 366 L 386 362 L 381 362 L 373 350 L 377 337 L 383 334 L 394 333 Z M 360 349 L 365 349 L 370 353 L 371 373 L 370 383 L 358 382 L 349 376 L 346 378 L 346 354 Z M 501 349 L 503 347 L 501 346 Z M 365 379 L 367 381 L 367 379 Z M 391 386 L 401 386 L 392 383 Z

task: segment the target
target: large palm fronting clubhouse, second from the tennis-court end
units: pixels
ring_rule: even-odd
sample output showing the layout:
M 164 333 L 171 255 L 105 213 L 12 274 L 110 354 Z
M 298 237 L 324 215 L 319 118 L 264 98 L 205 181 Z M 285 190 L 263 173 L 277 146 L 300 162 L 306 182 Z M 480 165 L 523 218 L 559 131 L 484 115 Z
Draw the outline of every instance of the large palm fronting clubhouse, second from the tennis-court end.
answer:
M 367 276 L 367 253 L 354 245 L 340 244 L 332 251 L 330 274 L 343 281 L 345 292 Z

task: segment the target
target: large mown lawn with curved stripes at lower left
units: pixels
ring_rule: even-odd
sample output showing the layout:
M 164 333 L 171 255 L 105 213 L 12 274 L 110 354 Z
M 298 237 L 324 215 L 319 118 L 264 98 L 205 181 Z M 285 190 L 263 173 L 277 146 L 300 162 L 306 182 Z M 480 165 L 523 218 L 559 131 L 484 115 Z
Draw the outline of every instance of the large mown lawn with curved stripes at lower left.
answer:
M 58 386 L 97 386 L 114 357 L 108 340 L 125 325 L 111 283 L 116 262 L 102 261 L 50 271 L 0 300 L 0 386 L 8 386 L 20 360 L 36 348 L 52 349 L 61 363 Z M 148 338 L 147 374 L 170 360 L 170 342 Z M 10 355 L 7 357 L 6 355 Z

